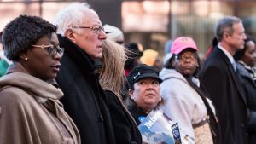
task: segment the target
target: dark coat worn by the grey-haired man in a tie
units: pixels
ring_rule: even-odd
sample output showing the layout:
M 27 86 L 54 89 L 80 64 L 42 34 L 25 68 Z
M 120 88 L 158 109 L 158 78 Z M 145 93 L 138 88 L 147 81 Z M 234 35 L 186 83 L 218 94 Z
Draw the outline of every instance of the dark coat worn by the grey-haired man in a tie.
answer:
M 214 49 L 204 63 L 201 82 L 218 113 L 222 143 L 247 143 L 247 100 L 229 58 Z

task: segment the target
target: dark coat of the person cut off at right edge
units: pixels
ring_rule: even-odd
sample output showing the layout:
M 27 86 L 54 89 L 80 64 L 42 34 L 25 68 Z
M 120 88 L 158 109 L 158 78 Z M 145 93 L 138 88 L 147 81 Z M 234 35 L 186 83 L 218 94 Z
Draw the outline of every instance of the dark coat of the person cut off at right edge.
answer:
M 247 95 L 248 143 L 256 143 L 256 85 L 247 69 L 236 63 L 237 72 L 241 75 L 241 84 Z

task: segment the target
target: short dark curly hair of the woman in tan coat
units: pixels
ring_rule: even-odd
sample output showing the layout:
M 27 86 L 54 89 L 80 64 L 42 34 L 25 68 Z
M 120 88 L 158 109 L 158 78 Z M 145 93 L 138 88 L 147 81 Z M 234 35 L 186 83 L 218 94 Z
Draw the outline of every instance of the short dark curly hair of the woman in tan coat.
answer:
M 20 15 L 3 29 L 4 54 L 9 60 L 19 60 L 19 55 L 46 34 L 56 32 L 57 27 L 48 21 L 30 15 Z

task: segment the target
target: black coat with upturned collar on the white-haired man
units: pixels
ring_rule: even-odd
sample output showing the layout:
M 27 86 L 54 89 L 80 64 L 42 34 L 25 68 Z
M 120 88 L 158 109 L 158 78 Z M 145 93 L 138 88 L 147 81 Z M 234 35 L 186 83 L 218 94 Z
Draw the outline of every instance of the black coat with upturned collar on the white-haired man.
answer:
M 67 37 L 58 35 L 65 48 L 56 78 L 64 109 L 79 129 L 82 144 L 114 144 L 108 101 L 95 73 L 96 61 Z

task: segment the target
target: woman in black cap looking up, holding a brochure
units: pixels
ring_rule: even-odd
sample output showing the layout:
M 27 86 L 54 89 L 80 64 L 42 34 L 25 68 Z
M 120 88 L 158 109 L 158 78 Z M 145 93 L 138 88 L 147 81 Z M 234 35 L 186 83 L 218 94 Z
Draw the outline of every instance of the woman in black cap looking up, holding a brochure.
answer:
M 130 85 L 130 98 L 126 104 L 128 110 L 135 118 L 137 124 L 140 124 L 149 112 L 157 107 L 160 102 L 160 83 L 158 72 L 154 68 L 145 64 L 135 66 L 128 75 Z

